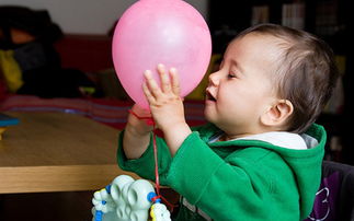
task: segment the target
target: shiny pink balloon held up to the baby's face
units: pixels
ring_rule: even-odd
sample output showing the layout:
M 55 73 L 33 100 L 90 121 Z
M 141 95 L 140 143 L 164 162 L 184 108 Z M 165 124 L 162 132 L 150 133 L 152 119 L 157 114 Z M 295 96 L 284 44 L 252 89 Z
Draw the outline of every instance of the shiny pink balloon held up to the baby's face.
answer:
M 139 0 L 119 19 L 112 54 L 125 91 L 138 105 L 149 108 L 142 92 L 144 71 L 151 70 L 160 83 L 158 63 L 176 68 L 184 97 L 207 70 L 210 33 L 198 11 L 182 0 Z

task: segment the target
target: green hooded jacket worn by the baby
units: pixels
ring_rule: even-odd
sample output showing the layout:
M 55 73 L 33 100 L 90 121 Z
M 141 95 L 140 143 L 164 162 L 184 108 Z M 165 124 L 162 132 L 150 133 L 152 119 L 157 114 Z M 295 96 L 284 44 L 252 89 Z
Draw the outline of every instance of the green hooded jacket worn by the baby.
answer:
M 315 124 L 308 129 L 306 137 L 317 142 L 304 150 L 248 139 L 209 143 L 219 132 L 212 124 L 194 128 L 174 158 L 164 140 L 157 138 L 160 184 L 173 188 L 213 220 L 307 218 L 321 179 L 322 126 Z M 124 131 L 118 141 L 118 165 L 155 181 L 152 141 L 141 158 L 127 160 L 123 136 Z M 178 220 L 203 219 L 182 207 Z

